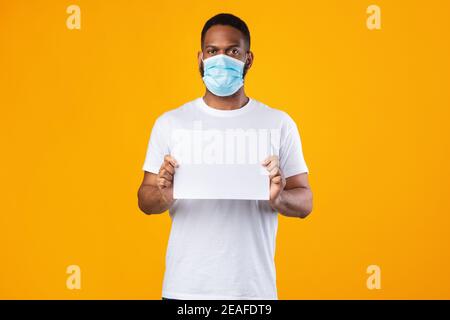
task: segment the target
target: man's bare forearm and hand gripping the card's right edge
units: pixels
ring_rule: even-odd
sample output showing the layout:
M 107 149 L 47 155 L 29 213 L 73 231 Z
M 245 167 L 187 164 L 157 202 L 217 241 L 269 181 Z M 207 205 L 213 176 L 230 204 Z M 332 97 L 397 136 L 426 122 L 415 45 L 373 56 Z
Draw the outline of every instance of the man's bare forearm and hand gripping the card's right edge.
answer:
M 270 173 L 270 205 L 287 217 L 306 218 L 312 211 L 312 191 L 308 174 L 284 178 L 278 157 L 269 157 L 263 163 Z

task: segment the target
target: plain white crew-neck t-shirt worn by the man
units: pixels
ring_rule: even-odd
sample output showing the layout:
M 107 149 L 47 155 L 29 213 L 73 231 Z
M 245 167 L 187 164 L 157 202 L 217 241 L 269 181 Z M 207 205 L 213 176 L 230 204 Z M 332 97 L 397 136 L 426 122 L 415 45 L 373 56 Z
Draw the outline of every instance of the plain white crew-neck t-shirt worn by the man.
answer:
M 202 121 L 212 128 L 280 130 L 280 167 L 286 178 L 308 172 L 300 135 L 289 115 L 251 99 L 218 110 L 202 97 L 156 121 L 143 170 L 158 173 L 170 154 L 174 129 Z M 175 173 L 176 174 L 176 173 Z M 278 213 L 266 200 L 175 200 L 162 296 L 173 299 L 278 299 L 275 241 Z

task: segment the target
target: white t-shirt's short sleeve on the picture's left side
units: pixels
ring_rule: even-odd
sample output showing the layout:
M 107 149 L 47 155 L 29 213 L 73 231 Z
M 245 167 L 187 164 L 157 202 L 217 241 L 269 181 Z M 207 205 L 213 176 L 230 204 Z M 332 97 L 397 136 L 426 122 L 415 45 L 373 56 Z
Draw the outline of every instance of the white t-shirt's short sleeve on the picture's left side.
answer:
M 147 172 L 158 173 L 164 156 L 169 154 L 168 126 L 164 115 L 156 119 L 147 147 L 144 166 L 142 169 Z

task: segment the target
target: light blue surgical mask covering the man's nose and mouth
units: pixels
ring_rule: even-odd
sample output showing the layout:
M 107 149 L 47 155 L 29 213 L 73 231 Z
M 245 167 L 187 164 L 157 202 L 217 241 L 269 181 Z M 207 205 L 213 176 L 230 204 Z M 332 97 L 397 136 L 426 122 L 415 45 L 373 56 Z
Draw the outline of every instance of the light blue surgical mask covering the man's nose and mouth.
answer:
M 218 54 L 202 61 L 203 82 L 216 96 L 231 96 L 243 86 L 245 63 L 241 60 Z

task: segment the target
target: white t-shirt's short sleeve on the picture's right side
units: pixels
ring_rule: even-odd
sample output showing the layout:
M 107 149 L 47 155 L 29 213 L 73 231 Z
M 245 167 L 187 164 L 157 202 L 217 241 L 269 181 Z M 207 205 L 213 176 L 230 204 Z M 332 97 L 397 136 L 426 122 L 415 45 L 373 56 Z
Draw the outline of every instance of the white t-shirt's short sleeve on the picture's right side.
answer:
M 285 137 L 280 145 L 280 168 L 286 178 L 300 173 L 308 173 L 300 133 L 295 122 L 288 116 Z

